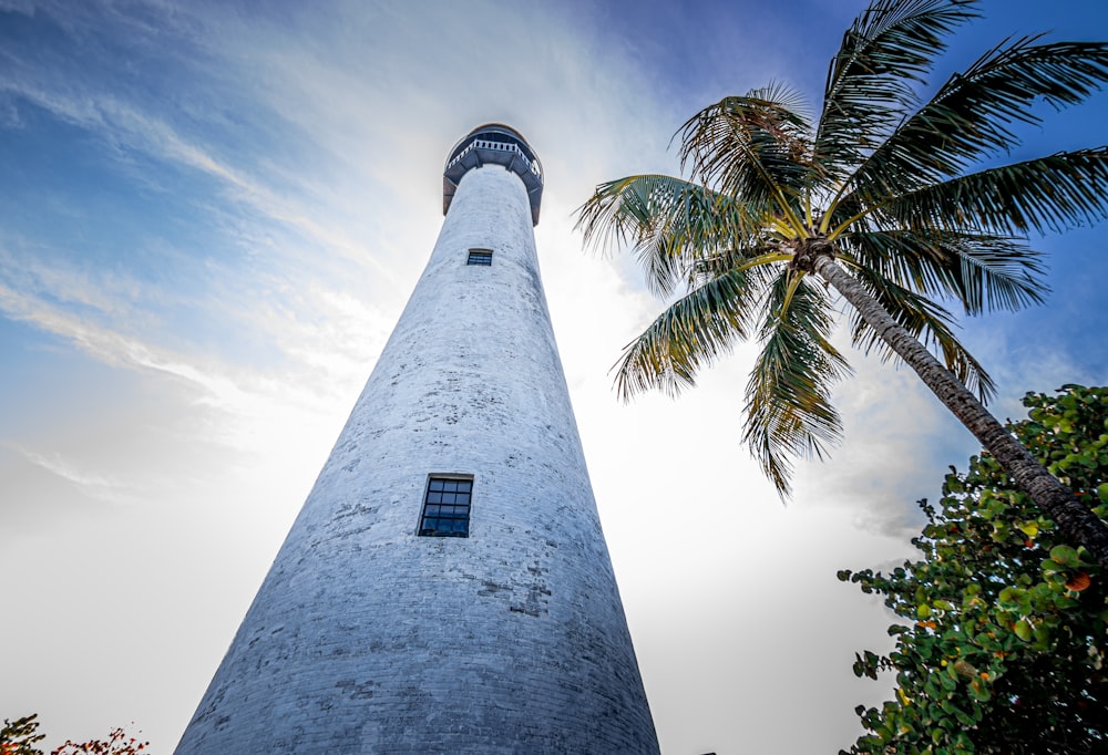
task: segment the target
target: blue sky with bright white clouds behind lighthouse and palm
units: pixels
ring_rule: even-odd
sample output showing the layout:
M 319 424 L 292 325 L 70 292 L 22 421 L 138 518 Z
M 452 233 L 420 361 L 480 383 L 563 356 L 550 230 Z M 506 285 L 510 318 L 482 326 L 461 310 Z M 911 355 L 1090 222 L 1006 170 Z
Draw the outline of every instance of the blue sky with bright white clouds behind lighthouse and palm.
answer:
M 663 303 L 573 226 L 596 184 L 677 172 L 670 136 L 725 95 L 817 106 L 862 7 L 0 0 L 0 717 L 172 752 L 427 261 L 447 153 L 504 122 L 545 168 L 546 294 L 663 752 L 849 747 L 891 689 L 851 663 L 891 619 L 835 571 L 911 556 L 973 438 L 848 351 L 845 441 L 782 505 L 739 442 L 752 348 L 620 404 L 609 368 Z M 1108 39 L 1100 0 L 982 9 L 935 84 L 1009 35 Z M 1105 143 L 1106 94 L 1043 114 L 1010 158 Z M 1046 304 L 961 323 L 1002 420 L 1105 383 L 1106 240 L 1034 237 Z

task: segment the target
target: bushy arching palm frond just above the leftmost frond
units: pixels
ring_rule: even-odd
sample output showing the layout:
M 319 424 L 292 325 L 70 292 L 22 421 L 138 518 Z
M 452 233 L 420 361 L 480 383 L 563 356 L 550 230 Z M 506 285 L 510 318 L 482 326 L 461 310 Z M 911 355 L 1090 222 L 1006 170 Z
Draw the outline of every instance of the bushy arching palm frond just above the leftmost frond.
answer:
M 782 87 L 725 97 L 681 126 L 681 167 L 762 213 L 796 215 L 813 179 L 811 126 Z

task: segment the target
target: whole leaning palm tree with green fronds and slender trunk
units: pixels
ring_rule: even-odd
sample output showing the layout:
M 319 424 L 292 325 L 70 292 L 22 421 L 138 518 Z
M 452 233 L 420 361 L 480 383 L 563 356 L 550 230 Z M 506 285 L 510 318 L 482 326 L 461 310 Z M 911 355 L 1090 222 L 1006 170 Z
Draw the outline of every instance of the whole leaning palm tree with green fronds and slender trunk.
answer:
M 984 407 L 995 385 L 944 307 L 1039 303 L 1027 234 L 1108 214 L 1108 147 L 982 167 L 1017 144 L 1014 124 L 1039 122 L 1034 103 L 1076 104 L 1108 80 L 1108 43 L 1007 40 L 923 100 L 975 4 L 873 0 L 831 61 L 814 123 L 780 85 L 726 97 L 675 135 L 688 179 L 596 188 L 578 209 L 586 244 L 629 245 L 655 292 L 685 289 L 626 348 L 616 387 L 625 400 L 676 394 L 736 340 L 757 339 L 742 439 L 787 496 L 793 461 L 824 457 L 842 433 L 830 396 L 850 368 L 830 342 L 834 289 L 852 308 L 853 344 L 915 370 L 1108 568 L 1108 528 Z

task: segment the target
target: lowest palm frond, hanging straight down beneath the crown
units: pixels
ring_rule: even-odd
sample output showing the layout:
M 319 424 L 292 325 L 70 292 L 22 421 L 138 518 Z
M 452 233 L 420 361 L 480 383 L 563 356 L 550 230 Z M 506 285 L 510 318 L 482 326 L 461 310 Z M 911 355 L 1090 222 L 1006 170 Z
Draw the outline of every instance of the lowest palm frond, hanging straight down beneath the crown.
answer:
M 790 492 L 792 459 L 823 458 L 842 437 L 831 390 L 850 374 L 829 341 L 829 298 L 811 278 L 798 281 L 801 276 L 784 270 L 768 290 L 762 351 L 746 391 L 742 439 L 782 497 Z

